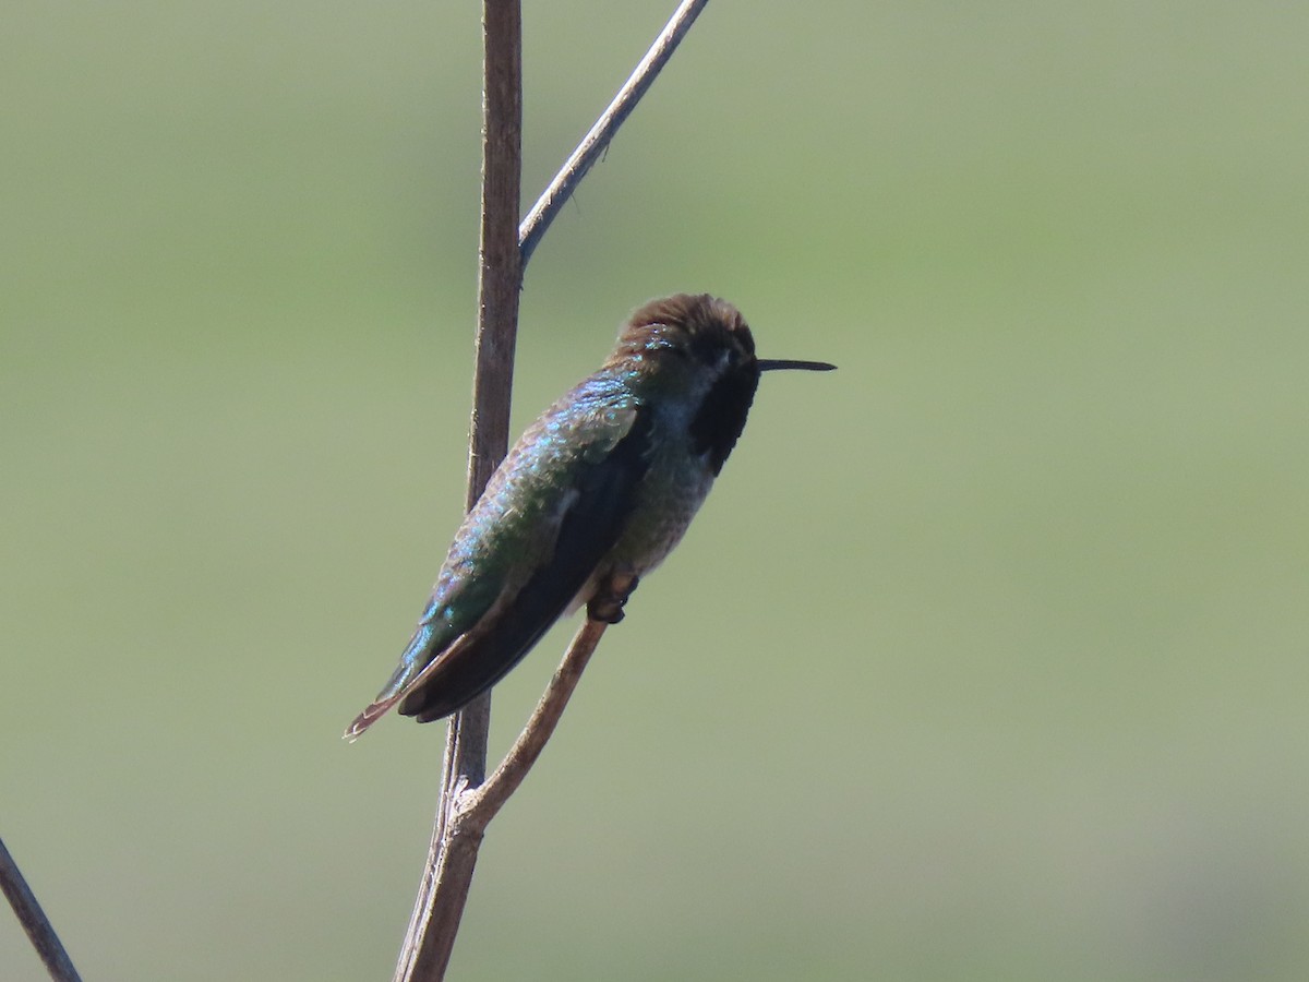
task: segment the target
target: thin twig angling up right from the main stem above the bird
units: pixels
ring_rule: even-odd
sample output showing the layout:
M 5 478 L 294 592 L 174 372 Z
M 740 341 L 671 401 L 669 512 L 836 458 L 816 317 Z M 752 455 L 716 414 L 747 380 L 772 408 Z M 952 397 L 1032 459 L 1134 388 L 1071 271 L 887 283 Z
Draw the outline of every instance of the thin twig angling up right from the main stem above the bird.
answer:
M 572 156 L 568 157 L 559 173 L 555 174 L 555 179 L 550 182 L 550 186 L 542 191 L 537 203 L 531 206 L 528 217 L 518 227 L 518 249 L 522 253 L 524 267 L 528 266 L 528 261 L 541 244 L 541 237 L 546 234 L 550 223 L 555 220 L 555 215 L 559 213 L 572 196 L 581 179 L 586 177 L 586 172 L 590 170 L 592 164 L 609 147 L 609 141 L 614 139 L 618 127 L 636 109 L 636 103 L 641 101 L 645 90 L 653 84 L 658 73 L 664 71 L 668 59 L 677 51 L 677 46 L 682 43 L 682 38 L 686 37 L 686 33 L 695 24 L 695 18 L 708 1 L 682 0 L 677 10 L 674 10 L 673 17 L 664 26 L 664 30 L 654 38 L 651 50 L 645 52 L 645 58 L 641 59 L 631 77 L 618 90 L 618 94 L 614 96 L 614 101 L 609 103 L 609 109 L 596 120 L 590 132 L 583 137 L 583 141 L 577 144 L 577 149 L 572 152 Z

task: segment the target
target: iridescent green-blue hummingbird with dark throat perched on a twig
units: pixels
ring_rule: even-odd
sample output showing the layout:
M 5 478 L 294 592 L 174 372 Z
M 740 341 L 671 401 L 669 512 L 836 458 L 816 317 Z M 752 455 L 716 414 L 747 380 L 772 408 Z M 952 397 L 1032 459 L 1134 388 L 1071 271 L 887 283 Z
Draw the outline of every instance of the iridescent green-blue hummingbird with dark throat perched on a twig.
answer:
M 703 504 L 762 372 L 741 313 L 707 293 L 639 308 L 600 367 L 522 435 L 463 518 L 414 638 L 355 740 L 393 706 L 449 716 L 499 682 L 560 617 L 618 623 Z

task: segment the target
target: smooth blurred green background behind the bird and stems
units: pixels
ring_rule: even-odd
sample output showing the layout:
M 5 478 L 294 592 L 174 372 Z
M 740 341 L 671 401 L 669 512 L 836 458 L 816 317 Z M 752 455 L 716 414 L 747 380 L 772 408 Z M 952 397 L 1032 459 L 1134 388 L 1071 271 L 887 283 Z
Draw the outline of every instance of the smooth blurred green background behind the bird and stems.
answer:
M 528 4 L 525 207 L 670 9 Z M 531 263 L 516 428 L 677 289 L 842 371 L 764 381 L 452 978 L 1305 978 L 1306 31 L 709 5 Z M 339 733 L 459 516 L 479 45 L 7 12 L 0 835 L 88 981 L 390 975 L 444 727 Z

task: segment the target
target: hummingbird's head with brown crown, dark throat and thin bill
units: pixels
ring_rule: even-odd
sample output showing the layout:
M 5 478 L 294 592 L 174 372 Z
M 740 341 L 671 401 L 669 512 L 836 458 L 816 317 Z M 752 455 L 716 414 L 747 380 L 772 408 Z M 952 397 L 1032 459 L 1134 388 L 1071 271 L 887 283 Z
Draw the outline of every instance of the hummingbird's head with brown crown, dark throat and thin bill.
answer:
M 741 312 L 708 293 L 675 293 L 639 308 L 606 364 L 640 376 L 652 398 L 685 414 L 692 446 L 708 454 L 715 474 L 745 429 L 761 372 L 835 368 L 761 360 Z

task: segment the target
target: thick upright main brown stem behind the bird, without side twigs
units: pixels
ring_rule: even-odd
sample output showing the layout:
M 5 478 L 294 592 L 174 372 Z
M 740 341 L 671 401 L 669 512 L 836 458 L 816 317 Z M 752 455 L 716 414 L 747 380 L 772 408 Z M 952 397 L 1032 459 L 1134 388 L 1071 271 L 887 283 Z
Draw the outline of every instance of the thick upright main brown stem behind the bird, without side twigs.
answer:
M 469 437 L 471 508 L 509 446 L 509 395 L 518 325 L 518 189 L 522 141 L 522 13 L 520 0 L 484 0 L 482 102 L 482 242 L 478 271 L 476 368 Z M 395 965 L 397 982 L 440 979 L 467 901 L 478 845 L 453 835 L 459 792 L 486 776 L 491 697 L 450 720 L 445 771 L 428 862 Z

